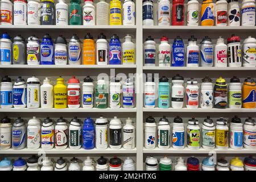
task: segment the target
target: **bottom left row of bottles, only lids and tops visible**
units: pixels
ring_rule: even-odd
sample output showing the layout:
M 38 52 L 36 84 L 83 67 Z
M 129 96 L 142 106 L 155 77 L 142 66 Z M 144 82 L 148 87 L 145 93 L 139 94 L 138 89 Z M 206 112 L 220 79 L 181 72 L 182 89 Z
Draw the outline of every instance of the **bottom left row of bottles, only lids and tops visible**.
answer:
M 69 166 L 68 166 L 69 164 Z M 12 163 L 11 159 L 3 158 L 0 161 L 0 171 L 135 171 L 135 164 L 133 159 L 127 157 L 122 164 L 120 158 L 114 157 L 109 159 L 101 156 L 97 159 L 96 165 L 92 158 L 89 156 L 81 164 L 79 159 L 73 157 L 66 162 L 63 157 L 56 160 L 54 165 L 52 160 L 44 157 L 43 160 L 35 155 L 25 159 L 18 158 Z

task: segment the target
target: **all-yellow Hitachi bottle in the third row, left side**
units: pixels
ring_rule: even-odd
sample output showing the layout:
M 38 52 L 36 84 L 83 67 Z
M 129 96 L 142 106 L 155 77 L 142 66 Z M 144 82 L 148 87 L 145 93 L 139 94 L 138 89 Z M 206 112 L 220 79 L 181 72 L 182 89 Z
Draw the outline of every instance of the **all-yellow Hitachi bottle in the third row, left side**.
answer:
M 67 108 L 67 86 L 64 85 L 64 78 L 57 78 L 57 83 L 54 86 L 54 108 Z

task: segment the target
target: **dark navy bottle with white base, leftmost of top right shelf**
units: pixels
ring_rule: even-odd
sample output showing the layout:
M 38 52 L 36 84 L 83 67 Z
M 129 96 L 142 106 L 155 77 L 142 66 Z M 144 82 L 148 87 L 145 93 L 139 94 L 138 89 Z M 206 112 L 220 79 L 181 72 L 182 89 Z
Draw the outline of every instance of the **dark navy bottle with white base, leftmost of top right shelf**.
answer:
M 143 14 L 143 25 L 154 26 L 154 5 L 152 0 L 143 1 L 142 14 Z

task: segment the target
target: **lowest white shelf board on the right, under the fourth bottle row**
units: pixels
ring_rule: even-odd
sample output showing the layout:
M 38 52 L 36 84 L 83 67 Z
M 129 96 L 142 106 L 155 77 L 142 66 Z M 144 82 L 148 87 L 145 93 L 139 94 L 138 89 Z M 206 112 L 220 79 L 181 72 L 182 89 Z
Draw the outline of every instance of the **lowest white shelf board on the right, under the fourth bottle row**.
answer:
M 169 148 L 167 150 L 162 150 L 159 148 L 150 150 L 143 148 L 144 154 L 209 154 L 209 152 L 216 152 L 217 154 L 256 154 L 256 150 L 249 150 L 245 148 L 242 150 L 235 150 L 232 148 L 229 148 L 228 150 L 220 150 L 217 148 L 214 148 L 213 150 L 207 150 L 204 148 L 200 148 L 199 150 L 192 150 L 187 147 L 184 149 Z

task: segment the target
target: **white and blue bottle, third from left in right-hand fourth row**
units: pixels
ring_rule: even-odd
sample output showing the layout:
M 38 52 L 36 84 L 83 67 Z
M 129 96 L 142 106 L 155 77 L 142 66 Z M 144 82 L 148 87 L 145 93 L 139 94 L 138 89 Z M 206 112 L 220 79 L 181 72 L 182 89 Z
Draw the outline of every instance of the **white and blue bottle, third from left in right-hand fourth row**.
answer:
M 185 129 L 182 118 L 179 116 L 174 118 L 172 125 L 172 147 L 176 149 L 183 149 L 185 141 Z

